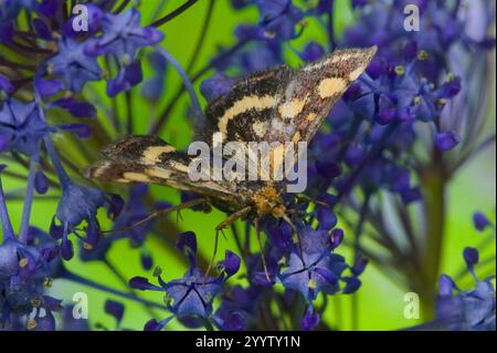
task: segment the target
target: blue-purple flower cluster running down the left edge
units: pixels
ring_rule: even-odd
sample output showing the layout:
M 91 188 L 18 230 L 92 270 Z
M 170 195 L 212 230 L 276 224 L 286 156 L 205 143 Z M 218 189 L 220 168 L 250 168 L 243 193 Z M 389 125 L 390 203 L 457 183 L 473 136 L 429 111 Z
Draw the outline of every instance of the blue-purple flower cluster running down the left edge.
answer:
M 62 108 L 75 118 L 94 118 L 96 108 L 82 96 L 82 92 L 88 82 L 108 76 L 105 74 L 106 69 L 101 68 L 98 58 L 105 56 L 107 62 L 115 62 L 118 69 L 116 77 L 107 81 L 107 94 L 114 96 L 141 82 L 137 52 L 158 43 L 162 33 L 152 27 L 142 28 L 136 9 L 116 14 L 105 11 L 103 4 L 86 6 L 86 19 L 91 28 L 89 31 L 77 32 L 73 25 L 75 15 L 65 20 L 57 18 L 56 13 L 62 13 L 62 3 L 50 0 L 2 1 L 0 6 L 0 44 L 18 50 L 21 56 L 35 63 L 21 65 L 30 73 L 29 79 L 25 79 L 21 76 L 17 63 L 6 61 L 3 52 L 0 56 L 0 66 L 12 69 L 7 75 L 3 72 L 0 74 L 0 152 L 2 156 L 11 154 L 13 160 L 25 160 L 29 169 L 24 212 L 17 237 L 10 226 L 3 190 L 0 193 L 3 230 L 0 324 L 11 329 L 19 328 L 19 324 L 21 329 L 29 330 L 55 329 L 52 312 L 61 309 L 61 301 L 46 295 L 44 288 L 51 285 L 53 278 L 64 276 L 84 282 L 61 267 L 59 259 L 73 258 L 71 235 L 81 245 L 83 260 L 88 257 L 105 260 L 110 240 L 134 237 L 133 233 L 117 235 L 103 241 L 98 210 L 106 206 L 107 217 L 116 219 L 124 201 L 117 195 L 73 180 L 64 165 L 66 160 L 60 157 L 54 136 L 71 132 L 76 138 L 87 138 L 92 135 L 91 124 L 60 124 L 53 116 Z M 29 29 L 32 33 L 19 30 L 18 18 L 23 11 L 36 15 Z M 32 35 L 36 41 L 27 41 L 27 35 Z M 29 43 L 22 46 L 20 42 Z M 24 95 L 23 92 L 29 94 Z M 53 177 L 57 181 L 54 183 Z M 34 194 L 49 195 L 50 186 L 61 196 L 49 235 L 49 231 L 30 227 L 30 214 Z M 136 201 L 133 193 L 130 199 Z M 126 218 L 129 221 L 146 212 L 145 206 L 135 203 L 133 207 L 135 210 L 129 207 L 125 209 L 124 217 L 116 222 L 117 227 L 124 225 Z M 136 241 L 137 246 L 142 242 Z M 146 251 L 142 259 L 145 264 L 150 262 Z M 54 262 L 56 264 L 52 266 Z

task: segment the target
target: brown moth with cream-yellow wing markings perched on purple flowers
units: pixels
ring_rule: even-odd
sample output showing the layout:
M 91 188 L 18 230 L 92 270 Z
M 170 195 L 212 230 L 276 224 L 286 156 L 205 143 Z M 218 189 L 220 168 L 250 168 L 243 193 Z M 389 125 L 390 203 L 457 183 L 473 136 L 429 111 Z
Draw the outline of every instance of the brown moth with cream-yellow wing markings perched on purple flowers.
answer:
M 279 65 L 251 74 L 208 105 L 198 138 L 210 145 L 214 134 L 223 143 L 310 143 L 335 103 L 367 69 L 376 52 L 376 46 L 337 50 L 300 69 Z M 166 211 L 207 204 L 226 212 L 228 218 L 215 228 L 215 243 L 219 231 L 237 219 L 272 215 L 293 226 L 282 199 L 284 183 L 192 181 L 188 174 L 191 162 L 192 156 L 157 136 L 127 136 L 105 147 L 101 160 L 87 169 L 87 176 L 103 181 L 155 183 L 200 195 L 198 200 Z

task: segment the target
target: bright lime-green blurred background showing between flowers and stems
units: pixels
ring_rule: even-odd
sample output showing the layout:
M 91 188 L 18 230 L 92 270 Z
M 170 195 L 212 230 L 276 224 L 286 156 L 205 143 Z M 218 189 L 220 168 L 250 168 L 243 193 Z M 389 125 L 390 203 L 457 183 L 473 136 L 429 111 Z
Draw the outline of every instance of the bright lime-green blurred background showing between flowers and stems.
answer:
M 163 7 L 161 3 L 163 2 Z M 142 24 L 148 24 L 152 19 L 157 19 L 161 14 L 168 13 L 176 9 L 183 1 L 142 1 L 140 7 L 142 13 Z M 336 30 L 341 32 L 347 23 L 353 21 L 353 15 L 349 9 L 348 1 L 339 1 L 336 11 Z M 190 61 L 192 52 L 194 51 L 197 41 L 201 35 L 202 21 L 208 11 L 208 1 L 201 0 L 191 9 L 182 13 L 180 17 L 168 22 L 161 27 L 166 37 L 163 46 L 169 50 L 178 61 L 183 65 Z M 233 34 L 234 28 L 243 22 L 255 22 L 257 20 L 257 11 L 254 7 L 234 11 L 228 0 L 215 0 L 215 6 L 212 19 L 204 38 L 204 43 L 198 60 L 194 62 L 192 73 L 203 68 L 214 54 L 218 53 L 220 45 L 233 45 L 235 38 Z M 319 23 L 309 22 L 304 35 L 290 43 L 293 48 L 299 49 L 302 44 L 309 39 L 318 42 L 325 42 L 326 33 L 319 27 Z M 299 60 L 288 46 L 285 53 L 288 62 L 292 65 L 298 65 Z M 145 66 L 146 68 L 146 66 Z M 149 69 L 148 69 L 149 70 Z M 146 76 L 152 74 L 147 72 Z M 495 73 L 494 73 L 495 74 Z M 208 77 L 210 74 L 207 74 Z M 495 76 L 495 75 L 494 75 Z M 204 77 L 204 79 L 205 79 Z M 199 80 L 201 82 L 202 80 Z M 198 83 L 199 83 L 198 82 Z M 178 74 L 173 70 L 168 71 L 166 93 L 161 104 L 165 105 L 171 100 L 171 96 L 180 85 Z M 198 84 L 195 85 L 198 89 Z M 104 92 L 105 87 L 98 84 L 91 84 L 85 89 L 85 94 L 92 93 L 92 90 Z M 490 90 L 494 91 L 489 96 L 495 95 L 495 82 Z M 134 90 L 135 95 L 138 96 L 140 86 Z M 117 98 L 117 106 L 119 111 L 125 112 L 123 95 Z M 167 125 L 162 129 L 161 137 L 178 147 L 184 147 L 192 137 L 190 125 L 187 121 L 188 96 L 183 95 L 176 104 L 176 108 L 171 112 Z M 108 103 L 108 102 L 107 102 Z M 202 104 L 205 102 L 202 98 Z M 160 111 L 158 106 L 150 106 L 148 103 L 135 100 L 133 114 L 135 115 L 135 124 L 139 133 L 145 133 L 149 126 L 150 120 L 155 118 L 155 114 Z M 488 110 L 490 124 L 487 128 L 494 131 L 495 134 L 495 103 Z M 99 112 L 99 118 L 105 120 L 105 115 Z M 469 162 L 464 169 L 453 179 L 450 185 L 448 198 L 448 214 L 446 219 L 447 232 L 444 242 L 444 252 L 442 259 L 442 272 L 448 274 L 457 274 L 463 268 L 462 250 L 466 246 L 476 246 L 479 243 L 482 235 L 473 229 L 472 214 L 475 210 L 482 210 L 486 214 L 495 215 L 496 204 L 496 149 L 495 145 L 488 148 L 484 154 Z M 96 156 L 81 156 L 77 164 L 82 167 L 87 165 Z M 15 168 L 13 168 L 15 169 Z M 22 183 L 13 179 L 4 178 L 6 190 L 14 190 L 22 188 Z M 179 200 L 178 194 L 175 190 L 163 187 L 154 186 L 157 195 L 160 195 L 166 200 L 177 203 Z M 22 201 L 10 200 L 8 203 L 9 211 L 14 224 L 19 227 Z M 415 205 L 410 206 L 416 208 Z M 32 224 L 42 228 L 49 229 L 49 225 L 56 208 L 55 200 L 40 200 L 38 199 L 33 206 Z M 179 221 L 178 227 L 181 230 L 192 230 L 198 236 L 198 242 L 201 253 L 209 258 L 213 249 L 214 227 L 223 219 L 224 215 L 219 211 L 213 211 L 210 215 L 202 215 L 200 212 L 192 212 L 189 210 L 182 211 L 183 220 Z M 494 216 L 493 216 L 494 217 Z M 170 216 L 171 221 L 176 221 L 176 215 Z M 104 222 L 104 226 L 106 224 Z M 240 229 L 242 225 L 239 225 Z M 15 228 L 17 229 L 17 228 Z M 226 232 L 228 240 L 221 238 L 220 250 L 218 253 L 223 253 L 224 248 L 234 249 L 234 243 L 230 239 L 230 232 Z M 173 235 L 172 235 L 173 236 Z M 346 232 L 347 237 L 347 232 Z M 165 278 L 172 279 L 181 277 L 186 270 L 183 262 L 178 258 L 179 255 L 175 251 L 169 251 L 157 237 L 149 237 L 147 240 L 147 248 L 151 251 L 155 264 L 163 269 Z M 495 251 L 495 242 L 491 243 Z M 340 253 L 348 255 L 347 249 L 340 248 Z M 121 276 L 129 279 L 134 276 L 146 276 L 150 273 L 145 272 L 140 267 L 139 251 L 129 249 L 126 240 L 116 243 L 110 252 L 110 262 L 119 269 Z M 105 266 L 97 263 L 82 263 L 77 257 L 67 262 L 67 267 L 75 273 L 85 276 L 96 282 L 126 291 L 126 287 L 121 281 Z M 490 269 L 485 269 L 495 273 L 495 263 Z M 392 330 L 412 326 L 420 321 L 404 319 L 403 310 L 406 304 L 404 302 L 404 294 L 408 292 L 405 288 L 400 288 L 398 284 L 387 278 L 380 269 L 374 266 L 369 266 L 362 274 L 362 288 L 357 293 L 358 295 L 358 326 L 359 330 Z M 463 283 L 472 284 L 468 277 L 464 278 Z M 464 287 L 464 285 L 463 285 Z M 55 281 L 52 288 L 52 294 L 56 298 L 63 298 L 64 303 L 71 303 L 72 297 L 76 292 L 85 292 L 88 294 L 89 304 L 89 321 L 92 324 L 99 322 L 108 329 L 114 329 L 114 320 L 112 316 L 104 313 L 104 302 L 106 299 L 114 299 L 126 304 L 126 312 L 123 321 L 124 328 L 141 330 L 146 321 L 150 319 L 147 310 L 142 305 L 129 300 L 121 300 L 117 295 L 109 295 L 105 292 L 92 290 L 87 287 L 75 284 L 67 281 Z M 160 293 L 140 292 L 142 298 L 161 302 Z M 351 330 L 351 298 L 350 295 L 336 295 L 330 300 L 329 308 L 325 314 L 325 320 L 332 328 L 338 330 Z M 168 313 L 156 311 L 157 318 L 166 318 Z M 170 329 L 181 329 L 175 321 L 168 326 Z

